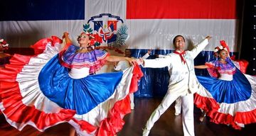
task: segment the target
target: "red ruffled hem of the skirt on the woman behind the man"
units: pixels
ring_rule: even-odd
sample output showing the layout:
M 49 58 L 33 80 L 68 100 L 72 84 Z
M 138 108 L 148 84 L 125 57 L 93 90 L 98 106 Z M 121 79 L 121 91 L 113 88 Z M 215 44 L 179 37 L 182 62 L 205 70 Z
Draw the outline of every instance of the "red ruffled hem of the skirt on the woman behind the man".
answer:
M 236 130 L 240 130 L 241 127 L 237 123 L 244 125 L 256 123 L 256 109 L 247 112 L 237 112 L 235 116 L 220 113 L 218 112 L 220 106 L 213 98 L 206 98 L 198 94 L 195 94 L 194 103 L 198 108 L 206 111 L 206 115 L 210 117 L 210 121 L 216 124 L 231 125 Z

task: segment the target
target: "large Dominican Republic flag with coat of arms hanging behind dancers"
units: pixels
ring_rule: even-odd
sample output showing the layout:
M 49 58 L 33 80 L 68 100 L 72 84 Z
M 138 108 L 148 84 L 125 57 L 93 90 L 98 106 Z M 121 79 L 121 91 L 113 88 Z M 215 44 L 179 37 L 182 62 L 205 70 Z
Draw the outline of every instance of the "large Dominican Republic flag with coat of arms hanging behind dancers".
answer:
M 90 23 L 102 43 L 112 42 L 120 24 L 127 25 L 127 47 L 132 49 L 172 50 L 178 34 L 192 45 L 211 35 L 206 51 L 220 40 L 228 43 L 231 52 L 240 48 L 236 0 L 4 0 L 1 5 L 5 6 L 0 9 L 0 37 L 11 47 L 29 47 L 41 38 L 61 37 L 64 31 L 76 41 L 82 25 Z

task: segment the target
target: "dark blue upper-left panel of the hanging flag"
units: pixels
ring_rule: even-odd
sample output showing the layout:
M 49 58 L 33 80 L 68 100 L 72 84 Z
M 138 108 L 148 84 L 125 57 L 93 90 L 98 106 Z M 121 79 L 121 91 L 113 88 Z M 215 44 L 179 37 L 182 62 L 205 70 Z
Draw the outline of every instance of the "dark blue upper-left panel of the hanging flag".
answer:
M 0 21 L 83 20 L 85 0 L 4 0 Z

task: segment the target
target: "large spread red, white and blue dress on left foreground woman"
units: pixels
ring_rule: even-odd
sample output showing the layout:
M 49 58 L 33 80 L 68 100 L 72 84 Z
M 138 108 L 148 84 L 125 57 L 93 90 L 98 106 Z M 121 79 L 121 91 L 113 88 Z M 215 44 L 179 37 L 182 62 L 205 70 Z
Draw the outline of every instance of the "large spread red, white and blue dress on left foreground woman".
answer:
M 33 56 L 14 55 L 0 72 L 0 108 L 9 124 L 43 131 L 70 123 L 78 135 L 115 135 L 130 113 L 129 94 L 142 77 L 138 66 L 94 74 L 107 52 L 62 50 L 57 37 L 39 40 Z

